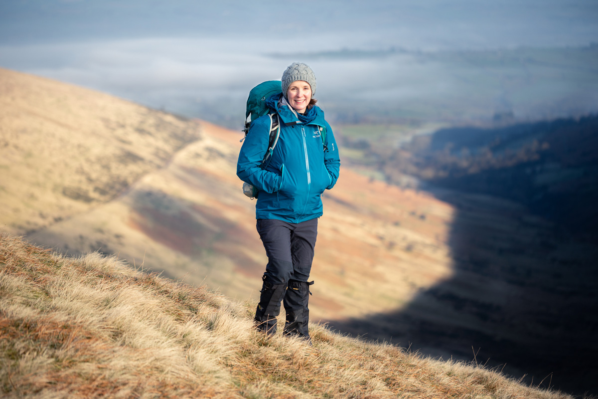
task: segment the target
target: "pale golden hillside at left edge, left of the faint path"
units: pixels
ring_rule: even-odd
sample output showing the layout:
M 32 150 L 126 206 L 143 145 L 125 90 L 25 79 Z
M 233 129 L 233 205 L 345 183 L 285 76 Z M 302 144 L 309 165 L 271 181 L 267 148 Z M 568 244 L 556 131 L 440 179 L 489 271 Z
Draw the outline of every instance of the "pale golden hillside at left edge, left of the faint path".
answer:
M 199 137 L 192 121 L 0 69 L 0 223 L 25 233 L 86 212 Z

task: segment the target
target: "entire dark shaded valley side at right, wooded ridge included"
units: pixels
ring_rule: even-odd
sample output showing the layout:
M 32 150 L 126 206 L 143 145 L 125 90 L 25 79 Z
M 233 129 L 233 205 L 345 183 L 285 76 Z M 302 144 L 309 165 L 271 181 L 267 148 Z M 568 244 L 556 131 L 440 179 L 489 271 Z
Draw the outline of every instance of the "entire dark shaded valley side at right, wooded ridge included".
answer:
M 566 391 L 598 392 L 596 132 L 588 115 L 446 128 L 395 148 L 353 139 L 363 166 L 453 206 L 453 273 L 398 312 L 331 325 L 453 356 L 474 346 L 535 380 L 552 374 Z

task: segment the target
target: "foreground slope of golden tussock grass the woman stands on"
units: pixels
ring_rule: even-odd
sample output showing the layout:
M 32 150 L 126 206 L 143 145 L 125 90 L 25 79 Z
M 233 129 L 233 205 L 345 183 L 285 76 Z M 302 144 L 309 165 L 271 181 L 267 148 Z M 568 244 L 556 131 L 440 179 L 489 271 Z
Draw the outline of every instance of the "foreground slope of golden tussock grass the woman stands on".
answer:
M 254 330 L 254 304 L 0 237 L 5 398 L 570 398 L 494 370 L 314 324 L 313 346 Z

